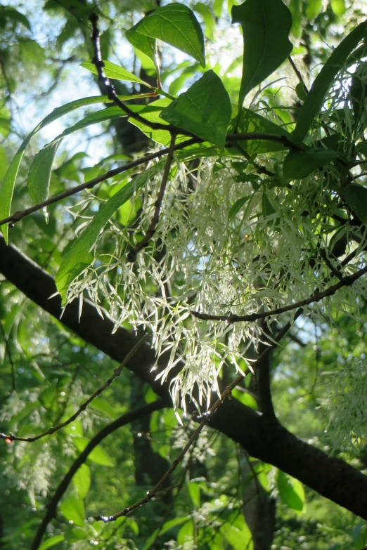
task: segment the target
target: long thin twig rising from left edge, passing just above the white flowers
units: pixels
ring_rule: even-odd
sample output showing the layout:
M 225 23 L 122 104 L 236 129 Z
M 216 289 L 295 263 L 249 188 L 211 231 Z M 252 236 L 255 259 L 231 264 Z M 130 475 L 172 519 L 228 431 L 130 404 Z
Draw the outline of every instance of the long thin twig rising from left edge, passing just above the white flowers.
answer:
M 167 126 L 165 126 L 165 129 L 167 129 Z M 276 143 L 282 143 L 285 148 L 303 150 L 303 148 L 300 148 L 295 143 L 292 143 L 292 141 L 288 140 L 288 138 L 283 136 L 273 136 L 271 133 L 255 133 L 255 132 L 228 133 L 228 135 L 226 136 L 226 140 L 227 141 L 237 141 L 237 140 L 275 141 Z M 176 144 L 174 146 L 174 150 L 179 151 L 186 147 L 190 147 L 195 143 L 202 143 L 202 141 L 203 141 L 202 138 L 192 138 L 191 140 L 183 141 L 181 143 Z M 49 207 L 50 204 L 55 204 L 55 202 L 60 202 L 61 200 L 66 199 L 67 197 L 76 195 L 77 193 L 79 193 L 79 191 L 83 191 L 84 189 L 92 189 L 94 188 L 95 185 L 97 185 L 97 183 L 101 183 L 102 181 L 108 180 L 109 178 L 112 178 L 113 176 L 117 176 L 117 174 L 120 174 L 122 172 L 126 172 L 131 168 L 135 168 L 136 166 L 140 166 L 141 164 L 146 164 L 146 162 L 149 162 L 150 160 L 164 157 L 165 155 L 167 155 L 168 152 L 169 152 L 169 148 L 165 148 L 160 151 L 150 153 L 149 155 L 144 155 L 143 157 L 141 157 L 141 159 L 136 159 L 134 161 L 131 161 L 127 164 L 124 164 L 124 166 L 119 166 L 118 168 L 109 170 L 108 172 L 101 174 L 101 176 L 98 176 L 97 178 L 93 178 L 89 181 L 86 181 L 85 183 L 81 183 L 80 185 L 77 185 L 75 188 L 68 189 L 67 191 L 62 192 L 59 195 L 55 195 L 50 199 L 47 199 L 43 202 L 39 202 L 39 204 L 35 204 L 34 207 L 26 208 L 25 210 L 15 212 L 11 216 L 8 216 L 8 218 L 4 218 L 3 220 L 0 220 L 0 225 L 4 225 L 4 223 L 9 223 L 9 227 L 13 227 L 14 223 L 17 223 L 18 221 L 22 220 L 22 218 L 25 218 L 25 216 L 29 216 L 30 214 L 34 214 L 34 212 L 37 212 L 43 208 Z

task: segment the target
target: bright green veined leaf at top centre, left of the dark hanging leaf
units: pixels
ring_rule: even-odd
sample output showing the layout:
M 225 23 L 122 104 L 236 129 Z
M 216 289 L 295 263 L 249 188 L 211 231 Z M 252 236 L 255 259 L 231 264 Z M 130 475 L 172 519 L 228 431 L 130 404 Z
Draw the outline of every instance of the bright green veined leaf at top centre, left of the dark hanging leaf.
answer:
M 146 15 L 130 31 L 162 40 L 196 59 L 205 67 L 202 30 L 193 11 L 183 4 L 168 4 Z

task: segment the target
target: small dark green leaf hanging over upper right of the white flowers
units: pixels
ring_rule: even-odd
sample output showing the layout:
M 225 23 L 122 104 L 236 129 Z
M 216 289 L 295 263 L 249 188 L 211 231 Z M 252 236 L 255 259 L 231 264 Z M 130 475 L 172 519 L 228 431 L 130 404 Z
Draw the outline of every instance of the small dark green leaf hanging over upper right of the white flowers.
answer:
M 337 151 L 326 149 L 290 151 L 284 159 L 283 176 L 289 180 L 306 178 L 314 170 L 333 162 L 339 156 Z

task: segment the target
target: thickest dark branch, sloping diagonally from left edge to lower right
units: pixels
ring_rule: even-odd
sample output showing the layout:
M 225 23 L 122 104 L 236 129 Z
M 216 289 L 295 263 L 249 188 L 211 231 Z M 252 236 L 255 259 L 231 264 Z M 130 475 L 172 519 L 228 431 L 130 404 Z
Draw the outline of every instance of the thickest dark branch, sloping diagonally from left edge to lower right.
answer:
M 60 318 L 60 297 L 49 300 L 56 292 L 53 278 L 15 247 L 7 247 L 0 237 L 0 273 L 15 284 L 30 300 Z M 93 304 L 84 300 L 78 322 L 78 305 L 67 306 L 63 324 L 111 358 L 121 361 L 136 343 L 136 336 L 125 329 L 112 332 L 112 322 L 102 319 Z M 150 369 L 155 361 L 148 346 L 137 351 L 127 367 L 152 386 L 157 395 L 169 400 L 168 385 L 154 380 Z M 165 358 L 160 359 L 160 366 Z M 328 457 L 290 433 L 276 419 L 266 420 L 261 414 L 232 399 L 225 401 L 214 414 L 210 426 L 240 443 L 252 456 L 277 466 L 318 493 L 367 520 L 367 476 L 345 461 Z

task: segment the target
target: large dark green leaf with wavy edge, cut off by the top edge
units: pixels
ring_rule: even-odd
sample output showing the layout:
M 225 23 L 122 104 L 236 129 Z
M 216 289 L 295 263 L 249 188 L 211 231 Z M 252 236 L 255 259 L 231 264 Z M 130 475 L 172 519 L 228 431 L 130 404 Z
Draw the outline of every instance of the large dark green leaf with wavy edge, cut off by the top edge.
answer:
M 292 16 L 282 0 L 246 0 L 232 8 L 232 22 L 243 29 L 245 50 L 238 105 L 274 72 L 292 51 Z

